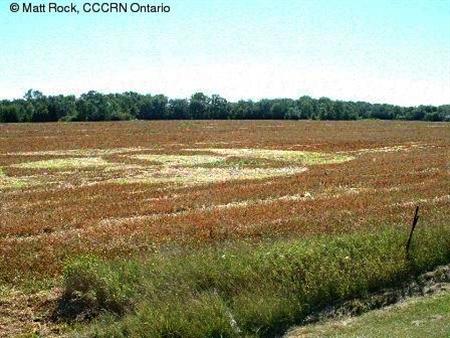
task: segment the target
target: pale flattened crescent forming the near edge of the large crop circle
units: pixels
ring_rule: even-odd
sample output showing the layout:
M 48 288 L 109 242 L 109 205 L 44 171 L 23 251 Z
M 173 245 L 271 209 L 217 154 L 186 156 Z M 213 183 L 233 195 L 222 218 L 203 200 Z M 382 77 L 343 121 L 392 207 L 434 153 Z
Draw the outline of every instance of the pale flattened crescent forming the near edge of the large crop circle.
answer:
M 181 185 L 199 185 L 231 180 L 266 179 L 271 177 L 290 176 L 306 171 L 303 167 L 286 168 L 175 168 L 162 167 L 160 170 L 112 180 L 117 183 L 175 183 Z

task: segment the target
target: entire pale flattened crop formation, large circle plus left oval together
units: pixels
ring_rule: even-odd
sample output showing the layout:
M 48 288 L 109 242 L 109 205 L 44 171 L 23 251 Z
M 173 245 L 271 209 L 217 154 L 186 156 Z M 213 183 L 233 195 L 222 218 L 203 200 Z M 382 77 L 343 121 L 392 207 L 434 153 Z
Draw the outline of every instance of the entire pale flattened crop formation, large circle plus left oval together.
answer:
M 70 158 L 53 158 L 40 161 L 14 164 L 13 167 L 24 169 L 60 170 L 59 173 L 71 173 L 71 170 L 94 168 L 99 171 L 98 182 L 115 182 L 121 184 L 144 183 L 193 186 L 226 181 L 267 179 L 286 177 L 306 171 L 305 165 L 340 163 L 353 159 L 348 155 L 333 155 L 319 152 L 269 149 L 192 149 L 213 154 L 127 154 L 127 152 L 144 150 L 143 148 L 117 149 L 78 149 L 61 152 L 45 152 L 52 156 L 72 155 Z M 82 154 L 97 156 L 75 157 Z M 101 155 L 123 153 L 120 157 L 148 161 L 147 164 L 130 164 L 108 162 Z M 25 154 L 25 153 L 23 153 Z M 22 154 L 22 155 L 23 155 Z M 30 155 L 37 155 L 36 152 Z M 39 153 L 43 155 L 43 153 Z M 268 163 L 266 163 L 268 162 Z M 109 178 L 104 175 L 109 175 Z M 25 179 L 25 178 L 23 178 Z M 62 177 L 59 177 L 62 179 Z M 8 183 L 5 183 L 8 180 Z M 4 178 L 3 185 L 23 184 L 22 178 Z

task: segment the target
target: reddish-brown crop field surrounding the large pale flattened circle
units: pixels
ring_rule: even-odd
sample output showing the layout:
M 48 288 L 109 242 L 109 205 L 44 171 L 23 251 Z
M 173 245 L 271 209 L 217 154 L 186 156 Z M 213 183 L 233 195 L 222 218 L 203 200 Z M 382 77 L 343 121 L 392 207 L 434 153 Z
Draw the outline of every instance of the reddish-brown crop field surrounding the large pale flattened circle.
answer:
M 153 163 L 131 155 L 214 156 L 208 148 L 296 150 L 353 159 L 223 182 L 185 184 L 184 179 L 174 185 L 135 179 L 146 177 L 145 168 Z M 448 223 L 449 150 L 448 123 L 0 125 L 0 280 L 58 275 L 64 259 L 80 253 L 113 258 L 167 245 L 405 226 L 416 204 L 422 206 L 422 218 Z M 213 162 L 194 167 L 204 168 L 202 173 L 291 167 L 273 158 L 229 156 Z

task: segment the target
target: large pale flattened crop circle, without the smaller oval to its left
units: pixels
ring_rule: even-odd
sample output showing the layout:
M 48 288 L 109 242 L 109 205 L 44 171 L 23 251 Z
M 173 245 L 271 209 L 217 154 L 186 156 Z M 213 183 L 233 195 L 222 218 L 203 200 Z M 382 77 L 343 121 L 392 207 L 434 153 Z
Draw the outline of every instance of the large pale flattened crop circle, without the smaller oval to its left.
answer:
M 348 155 L 292 150 L 250 148 L 197 148 L 188 150 L 214 154 L 128 155 L 130 158 L 146 160 L 151 164 L 144 172 L 113 179 L 112 181 L 122 184 L 147 183 L 191 186 L 233 180 L 285 177 L 304 172 L 307 170 L 304 165 L 341 163 L 353 159 L 352 156 Z M 243 163 L 241 164 L 239 160 Z M 268 166 L 267 163 L 261 161 L 278 162 L 278 166 Z

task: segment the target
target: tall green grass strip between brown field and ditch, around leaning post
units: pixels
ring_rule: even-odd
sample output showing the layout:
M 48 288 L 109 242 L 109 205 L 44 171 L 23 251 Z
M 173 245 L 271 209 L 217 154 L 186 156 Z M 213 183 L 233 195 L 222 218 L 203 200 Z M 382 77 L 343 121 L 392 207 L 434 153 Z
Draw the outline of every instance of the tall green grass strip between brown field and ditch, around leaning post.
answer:
M 450 261 L 450 228 L 405 229 L 203 249 L 146 261 L 82 257 L 65 268 L 64 315 L 99 315 L 77 335 L 269 337 L 333 301 Z

